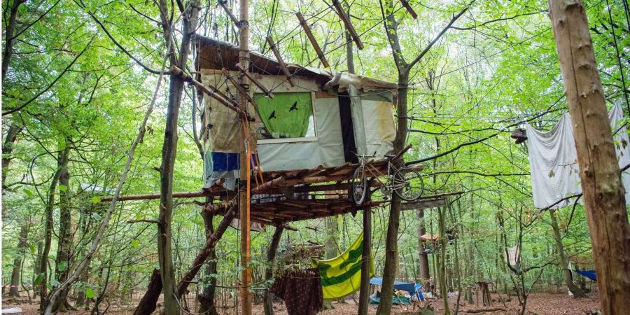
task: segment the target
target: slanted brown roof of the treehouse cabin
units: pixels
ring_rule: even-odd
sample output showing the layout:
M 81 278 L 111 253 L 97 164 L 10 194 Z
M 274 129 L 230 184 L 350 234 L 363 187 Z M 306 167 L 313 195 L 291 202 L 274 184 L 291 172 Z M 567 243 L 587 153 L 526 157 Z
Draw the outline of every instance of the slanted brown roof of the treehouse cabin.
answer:
M 198 43 L 197 49 L 199 50 L 197 59 L 195 60 L 197 69 L 225 68 L 237 71 L 236 64 L 239 62 L 239 48 L 237 46 L 207 36 L 197 35 L 196 38 Z M 251 63 L 250 71 L 253 73 L 269 76 L 284 75 L 282 69 L 280 69 L 279 63 L 274 59 L 270 59 L 253 51 L 250 52 L 249 58 Z M 339 78 L 337 82 L 339 90 L 346 90 L 349 85 L 353 85 L 364 91 L 393 90 L 395 94 L 395 89 L 398 87 L 396 83 L 351 73 L 328 71 L 297 64 L 286 64 L 286 66 L 293 76 L 312 78 L 316 80 L 320 86 L 328 83 L 332 78 L 335 78 L 336 75 L 337 78 Z

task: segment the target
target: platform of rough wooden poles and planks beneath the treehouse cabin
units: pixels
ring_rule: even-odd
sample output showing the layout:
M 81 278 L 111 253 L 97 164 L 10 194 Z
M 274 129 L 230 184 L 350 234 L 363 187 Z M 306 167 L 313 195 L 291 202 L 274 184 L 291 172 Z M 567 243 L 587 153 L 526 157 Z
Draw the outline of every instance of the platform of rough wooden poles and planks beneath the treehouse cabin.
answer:
M 379 172 L 386 174 L 388 160 L 372 161 Z M 379 200 L 364 202 L 357 206 L 350 200 L 348 191 L 351 179 L 358 164 L 346 163 L 339 167 L 316 167 L 292 171 L 263 172 L 264 183 L 251 180 L 251 220 L 267 225 L 281 225 L 293 221 L 324 218 L 338 214 L 360 211 L 368 207 L 379 207 L 390 202 Z M 420 170 L 421 167 L 416 167 Z M 372 181 L 372 189 L 380 186 L 379 181 Z M 211 197 L 212 202 L 204 204 L 204 211 L 223 215 L 237 202 L 237 192 L 226 190 L 221 183 L 191 193 L 174 193 L 174 198 Z M 159 199 L 160 194 L 127 195 L 118 198 L 125 200 Z M 111 201 L 111 197 L 102 197 L 102 202 Z M 423 196 L 415 202 L 403 204 L 403 209 L 421 209 L 444 205 L 442 195 Z

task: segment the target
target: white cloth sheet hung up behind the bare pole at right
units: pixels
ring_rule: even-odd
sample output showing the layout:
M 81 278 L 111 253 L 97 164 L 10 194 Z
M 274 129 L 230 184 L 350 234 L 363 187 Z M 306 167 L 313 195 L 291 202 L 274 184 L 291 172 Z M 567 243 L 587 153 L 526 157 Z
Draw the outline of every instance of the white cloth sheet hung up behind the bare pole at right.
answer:
M 619 103 L 608 113 L 608 118 L 614 134 L 619 167 L 625 167 L 630 164 L 630 141 L 626 127 L 621 126 L 623 111 Z M 547 208 L 563 198 L 582 193 L 569 114 L 564 114 L 549 132 L 539 132 L 529 124 L 526 130 L 534 206 Z M 629 172 L 622 174 L 622 182 L 624 187 L 630 188 Z M 629 191 L 626 189 L 626 204 L 630 202 Z M 552 208 L 565 207 L 570 202 L 566 200 Z

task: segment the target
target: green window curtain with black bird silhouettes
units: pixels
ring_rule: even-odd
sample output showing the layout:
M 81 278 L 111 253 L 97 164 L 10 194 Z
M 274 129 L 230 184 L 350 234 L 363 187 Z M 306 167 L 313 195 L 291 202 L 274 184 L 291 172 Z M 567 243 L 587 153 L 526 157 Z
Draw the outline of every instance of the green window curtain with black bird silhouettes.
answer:
M 273 99 L 264 94 L 254 97 L 267 137 L 302 138 L 307 134 L 313 113 L 311 92 L 277 93 Z

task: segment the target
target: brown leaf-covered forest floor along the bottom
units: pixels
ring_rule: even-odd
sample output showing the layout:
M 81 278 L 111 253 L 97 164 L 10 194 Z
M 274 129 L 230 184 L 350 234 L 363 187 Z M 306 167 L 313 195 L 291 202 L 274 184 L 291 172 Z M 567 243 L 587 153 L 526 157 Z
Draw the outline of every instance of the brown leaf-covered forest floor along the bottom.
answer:
M 492 295 L 493 300 L 500 301 L 499 295 Z M 505 298 L 505 295 L 503 295 Z M 454 309 L 457 297 L 449 297 L 449 304 L 451 307 L 451 312 Z M 334 309 L 328 309 L 325 311 L 321 311 L 318 314 L 322 315 L 342 315 L 342 314 L 356 314 L 357 305 L 352 299 L 346 299 L 346 303 L 337 303 L 333 302 Z M 192 300 L 190 302 L 193 302 Z M 435 309 L 435 314 L 442 314 L 443 304 L 442 300 L 433 300 L 430 301 L 430 305 Z M 21 314 L 25 315 L 36 315 L 38 312 L 38 302 L 35 300 L 32 304 L 28 303 L 28 300 L 20 299 L 20 300 L 8 300 L 3 298 L 2 308 L 7 309 L 10 307 L 20 307 L 23 312 Z M 102 310 L 106 305 L 103 305 Z M 503 309 L 498 311 L 486 311 L 486 312 L 478 312 L 475 314 L 493 314 L 493 315 L 503 315 L 503 314 L 519 314 L 519 302 L 516 297 L 512 297 L 512 300 L 505 302 L 505 305 L 502 302 L 493 302 L 492 306 L 487 307 L 475 307 L 475 304 L 468 304 L 463 299 L 460 302 L 460 314 L 467 314 L 467 311 L 475 311 L 479 309 Z M 117 305 L 116 303 L 110 304 L 110 307 L 107 311 L 107 314 L 120 314 L 127 315 L 133 313 L 133 306 L 127 305 Z M 276 315 L 287 315 L 286 307 L 284 303 L 274 303 L 274 309 Z M 528 297 L 527 309 L 525 314 L 528 315 L 582 315 L 589 314 L 589 311 L 599 309 L 599 299 L 596 293 L 590 293 L 589 297 L 574 300 L 572 297 L 566 295 L 566 293 L 531 293 Z M 377 305 L 370 305 L 368 310 L 368 314 L 376 314 Z M 397 311 L 411 311 L 412 307 L 403 307 L 395 305 L 392 307 L 392 314 L 395 314 Z M 192 312 L 194 314 L 194 312 Z M 90 314 L 90 311 L 70 311 L 65 313 L 68 315 L 87 315 Z M 157 312 L 155 314 L 158 314 Z M 182 313 L 184 314 L 184 313 Z M 219 309 L 219 314 L 221 315 L 237 315 L 235 309 Z M 262 312 L 262 304 L 254 305 L 253 314 L 263 314 Z

